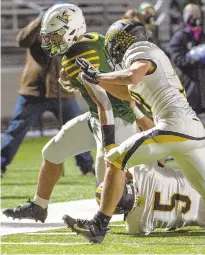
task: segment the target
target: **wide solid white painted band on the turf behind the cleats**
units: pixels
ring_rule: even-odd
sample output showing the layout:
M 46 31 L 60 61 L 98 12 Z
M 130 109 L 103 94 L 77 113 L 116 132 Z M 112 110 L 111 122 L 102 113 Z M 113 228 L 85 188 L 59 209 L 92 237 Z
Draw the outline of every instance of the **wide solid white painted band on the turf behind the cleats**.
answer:
M 77 200 L 63 203 L 49 204 L 48 217 L 44 224 L 34 220 L 22 219 L 13 220 L 1 214 L 0 236 L 18 233 L 39 232 L 57 228 L 66 228 L 62 217 L 65 214 L 74 218 L 92 219 L 97 212 L 98 205 L 95 199 Z M 122 221 L 123 215 L 114 215 L 112 221 Z M 113 224 L 117 226 L 117 224 Z M 123 225 L 122 225 L 123 226 Z M 121 227 L 121 224 L 119 225 Z

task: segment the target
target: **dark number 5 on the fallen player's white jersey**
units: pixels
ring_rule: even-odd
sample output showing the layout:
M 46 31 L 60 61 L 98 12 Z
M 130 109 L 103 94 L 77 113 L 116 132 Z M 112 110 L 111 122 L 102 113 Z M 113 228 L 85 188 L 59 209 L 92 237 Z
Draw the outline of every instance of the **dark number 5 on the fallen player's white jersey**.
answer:
M 162 211 L 162 212 L 171 212 L 179 202 L 183 203 L 181 206 L 181 213 L 186 214 L 191 208 L 191 200 L 186 195 L 181 195 L 179 193 L 174 193 L 170 197 L 169 204 L 163 204 L 161 201 L 161 192 L 155 191 L 155 199 L 154 199 L 154 211 Z

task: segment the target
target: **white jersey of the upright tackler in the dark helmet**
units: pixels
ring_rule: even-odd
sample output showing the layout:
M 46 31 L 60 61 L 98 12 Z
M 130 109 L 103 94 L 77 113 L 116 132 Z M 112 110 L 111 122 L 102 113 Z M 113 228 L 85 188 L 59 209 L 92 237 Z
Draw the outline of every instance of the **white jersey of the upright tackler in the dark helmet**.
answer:
M 149 60 L 153 71 L 147 73 L 137 86 L 129 86 L 133 98 L 155 118 L 163 119 L 174 114 L 194 117 L 184 88 L 166 54 L 153 43 L 137 42 L 126 51 L 123 68 L 129 68 L 138 60 Z

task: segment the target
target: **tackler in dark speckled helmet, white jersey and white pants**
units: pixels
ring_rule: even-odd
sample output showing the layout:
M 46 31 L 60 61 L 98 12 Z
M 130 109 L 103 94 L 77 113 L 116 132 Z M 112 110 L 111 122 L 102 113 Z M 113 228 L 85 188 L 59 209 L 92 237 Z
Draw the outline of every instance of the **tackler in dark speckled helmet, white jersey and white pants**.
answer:
M 120 146 L 115 147 L 114 138 L 107 139 L 107 170 L 100 210 L 90 221 L 82 222 L 65 216 L 68 226 L 72 227 L 75 222 L 76 232 L 95 243 L 103 241 L 107 225 L 122 196 L 125 180 L 121 170 L 126 166 L 149 163 L 171 155 L 205 199 L 205 130 L 189 106 L 168 57 L 147 41 L 143 25 L 134 20 L 120 20 L 111 25 L 105 36 L 105 47 L 119 71 L 102 74 L 88 62 L 78 59 L 77 64 L 84 72 L 80 75 L 81 79 L 87 81 L 93 91 L 109 88 L 109 92 L 117 97 L 119 87 L 129 87 L 132 96 L 150 109 L 156 126 L 131 136 Z M 101 110 L 100 106 L 98 110 Z M 109 122 L 109 117 L 107 120 L 105 124 L 101 119 L 105 137 L 104 129 L 109 129 L 113 123 Z

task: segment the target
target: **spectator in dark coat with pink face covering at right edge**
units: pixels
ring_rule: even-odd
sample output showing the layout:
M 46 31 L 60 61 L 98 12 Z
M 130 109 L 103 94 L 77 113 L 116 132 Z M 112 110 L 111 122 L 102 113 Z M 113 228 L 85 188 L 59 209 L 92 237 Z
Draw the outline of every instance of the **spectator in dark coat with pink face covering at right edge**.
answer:
M 198 114 L 205 112 L 205 63 L 196 54 L 195 46 L 205 44 L 200 7 L 188 4 L 183 10 L 184 28 L 169 43 L 169 54 L 186 90 L 187 99 Z

